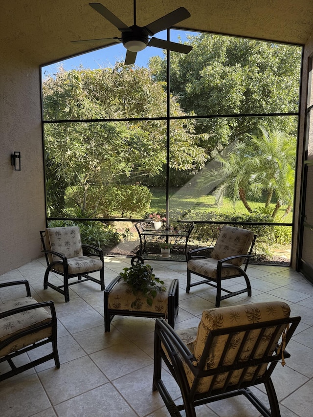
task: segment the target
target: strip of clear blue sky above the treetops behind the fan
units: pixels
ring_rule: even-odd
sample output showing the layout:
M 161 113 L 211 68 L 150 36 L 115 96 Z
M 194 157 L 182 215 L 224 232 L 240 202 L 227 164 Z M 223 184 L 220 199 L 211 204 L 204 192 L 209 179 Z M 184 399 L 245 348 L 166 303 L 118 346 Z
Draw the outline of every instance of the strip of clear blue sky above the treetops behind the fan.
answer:
M 181 42 L 188 41 L 186 39 L 187 32 L 183 30 L 172 30 L 171 31 L 171 41 L 177 42 L 178 37 L 180 37 Z M 193 33 L 195 35 L 195 33 Z M 159 32 L 156 34 L 156 38 L 166 39 L 167 31 Z M 43 78 L 48 75 L 52 75 L 58 71 L 58 67 L 62 64 L 65 70 L 70 70 L 78 68 L 82 65 L 84 68 L 96 69 L 103 67 L 112 67 L 116 61 L 124 61 L 126 55 L 126 49 L 123 44 L 116 44 L 108 46 L 106 48 L 98 49 L 96 51 L 88 52 L 74 58 L 68 58 L 62 60 L 58 63 L 51 64 L 48 66 L 43 66 Z M 136 65 L 137 66 L 147 66 L 149 58 L 155 55 L 164 57 L 163 50 L 160 48 L 155 48 L 153 46 L 146 47 L 143 51 L 137 53 Z

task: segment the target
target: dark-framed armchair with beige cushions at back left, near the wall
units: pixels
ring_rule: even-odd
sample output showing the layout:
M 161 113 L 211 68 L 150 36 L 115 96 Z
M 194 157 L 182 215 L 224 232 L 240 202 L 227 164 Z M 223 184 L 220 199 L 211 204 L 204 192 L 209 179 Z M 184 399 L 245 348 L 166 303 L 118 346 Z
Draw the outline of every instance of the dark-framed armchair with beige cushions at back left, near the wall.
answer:
M 69 301 L 69 285 L 93 281 L 100 284 L 104 291 L 104 260 L 102 249 L 82 244 L 78 226 L 50 227 L 40 232 L 43 252 L 47 262 L 44 288 L 48 286 L 64 295 Z M 100 271 L 100 280 L 90 276 Z M 48 281 L 49 273 L 63 276 L 63 285 L 54 285 Z M 69 282 L 71 278 L 78 279 Z M 85 279 L 82 280 L 82 277 Z

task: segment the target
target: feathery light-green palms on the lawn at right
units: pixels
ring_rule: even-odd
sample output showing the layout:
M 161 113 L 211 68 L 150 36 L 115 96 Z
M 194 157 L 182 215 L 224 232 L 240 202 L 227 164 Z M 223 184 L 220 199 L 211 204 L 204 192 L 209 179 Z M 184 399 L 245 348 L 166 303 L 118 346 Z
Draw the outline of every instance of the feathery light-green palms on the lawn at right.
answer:
M 249 213 L 253 210 L 247 196 L 261 198 L 266 193 L 265 208 L 274 196 L 274 218 L 283 204 L 287 204 L 286 213 L 292 207 L 296 141 L 281 131 L 260 130 L 261 135 L 250 135 L 246 143 L 236 143 L 226 156 L 218 155 L 220 166 L 201 173 L 198 185 L 216 187 L 213 195 L 219 206 L 227 196 L 234 203 L 241 200 Z

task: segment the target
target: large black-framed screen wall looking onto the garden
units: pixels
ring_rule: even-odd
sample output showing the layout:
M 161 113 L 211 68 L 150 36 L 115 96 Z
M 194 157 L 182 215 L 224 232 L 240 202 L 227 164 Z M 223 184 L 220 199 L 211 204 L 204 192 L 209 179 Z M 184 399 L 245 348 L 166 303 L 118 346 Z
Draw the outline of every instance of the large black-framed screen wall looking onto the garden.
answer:
M 302 48 L 203 33 L 185 43 L 188 55 L 147 67 L 45 78 L 48 223 L 95 235 L 99 224 L 114 256 L 137 253 L 134 223 L 152 213 L 164 230 L 194 222 L 190 246 L 237 224 L 258 234 L 259 262 L 289 264 Z

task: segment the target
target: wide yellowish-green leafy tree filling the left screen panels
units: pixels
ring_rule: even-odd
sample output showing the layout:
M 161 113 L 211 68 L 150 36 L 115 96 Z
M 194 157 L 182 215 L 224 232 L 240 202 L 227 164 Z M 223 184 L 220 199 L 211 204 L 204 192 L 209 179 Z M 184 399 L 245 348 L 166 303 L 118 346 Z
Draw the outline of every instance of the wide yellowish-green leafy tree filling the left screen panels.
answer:
M 160 173 L 166 162 L 166 123 L 163 120 L 119 121 L 166 114 L 166 93 L 147 68 L 117 63 L 113 69 L 60 70 L 43 85 L 45 151 L 49 182 L 66 181 L 82 211 L 91 186 L 140 184 Z M 185 113 L 171 99 L 177 116 Z M 88 119 L 114 121 L 84 122 Z M 77 120 L 78 122 L 75 122 Z M 175 120 L 171 137 L 179 152 L 171 154 L 175 169 L 199 169 L 206 155 L 194 146 L 194 121 Z M 51 182 L 51 181 L 50 181 Z M 50 205 L 50 202 L 49 202 Z

